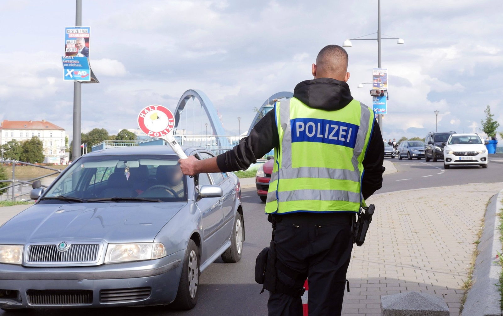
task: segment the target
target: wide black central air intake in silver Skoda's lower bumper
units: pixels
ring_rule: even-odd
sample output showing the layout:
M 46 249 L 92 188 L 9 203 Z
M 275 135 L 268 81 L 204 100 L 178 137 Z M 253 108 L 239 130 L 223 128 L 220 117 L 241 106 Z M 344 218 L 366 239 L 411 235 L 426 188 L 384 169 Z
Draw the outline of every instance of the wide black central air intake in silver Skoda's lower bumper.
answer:
M 88 290 L 28 290 L 31 305 L 89 305 L 93 303 L 93 291 Z

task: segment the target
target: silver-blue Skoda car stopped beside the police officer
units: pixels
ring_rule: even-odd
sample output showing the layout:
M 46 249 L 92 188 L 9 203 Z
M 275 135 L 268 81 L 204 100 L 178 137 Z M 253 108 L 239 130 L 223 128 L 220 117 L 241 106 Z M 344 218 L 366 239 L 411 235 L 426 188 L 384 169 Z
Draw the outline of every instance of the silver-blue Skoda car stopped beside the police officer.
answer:
M 2 309 L 190 309 L 200 273 L 218 257 L 241 258 L 239 180 L 186 177 L 167 146 L 93 151 L 46 190 L 38 186 L 36 203 L 0 226 Z

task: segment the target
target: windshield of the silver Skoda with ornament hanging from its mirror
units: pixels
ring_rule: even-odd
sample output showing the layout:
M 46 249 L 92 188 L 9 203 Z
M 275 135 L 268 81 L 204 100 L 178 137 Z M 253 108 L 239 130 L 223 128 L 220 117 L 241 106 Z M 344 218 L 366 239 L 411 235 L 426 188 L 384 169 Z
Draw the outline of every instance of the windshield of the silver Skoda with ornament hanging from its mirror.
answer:
M 41 200 L 175 202 L 187 200 L 186 188 L 176 155 L 93 155 L 70 165 Z

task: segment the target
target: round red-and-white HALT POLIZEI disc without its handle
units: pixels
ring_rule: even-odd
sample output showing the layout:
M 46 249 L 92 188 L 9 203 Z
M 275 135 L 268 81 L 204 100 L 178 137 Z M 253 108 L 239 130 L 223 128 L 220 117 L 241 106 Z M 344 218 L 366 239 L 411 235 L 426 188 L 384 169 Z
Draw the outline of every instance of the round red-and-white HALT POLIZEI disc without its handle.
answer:
M 173 131 L 175 116 L 162 105 L 149 105 L 138 114 L 138 127 L 151 137 L 163 137 Z

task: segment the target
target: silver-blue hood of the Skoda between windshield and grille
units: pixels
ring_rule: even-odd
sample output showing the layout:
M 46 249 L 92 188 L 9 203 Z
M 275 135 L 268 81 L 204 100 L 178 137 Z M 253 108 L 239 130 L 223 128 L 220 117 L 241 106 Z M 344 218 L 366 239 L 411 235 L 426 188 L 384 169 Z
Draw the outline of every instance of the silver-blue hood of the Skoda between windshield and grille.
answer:
M 61 240 L 152 242 L 187 202 L 35 204 L 0 227 L 2 244 Z

